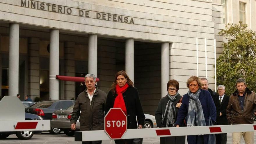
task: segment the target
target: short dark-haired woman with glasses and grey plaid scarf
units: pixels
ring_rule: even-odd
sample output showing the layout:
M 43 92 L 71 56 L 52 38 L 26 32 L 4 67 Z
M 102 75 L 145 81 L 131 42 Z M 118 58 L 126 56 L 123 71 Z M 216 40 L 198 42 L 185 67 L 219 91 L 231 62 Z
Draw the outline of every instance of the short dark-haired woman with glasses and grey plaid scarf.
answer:
M 178 90 L 178 81 L 174 79 L 168 81 L 167 95 L 160 99 L 155 113 L 157 127 L 175 127 L 178 110 L 181 106 L 181 103 L 179 103 L 179 101 L 182 98 L 182 96 L 177 93 Z M 185 144 L 185 136 L 161 137 L 160 144 L 166 143 Z

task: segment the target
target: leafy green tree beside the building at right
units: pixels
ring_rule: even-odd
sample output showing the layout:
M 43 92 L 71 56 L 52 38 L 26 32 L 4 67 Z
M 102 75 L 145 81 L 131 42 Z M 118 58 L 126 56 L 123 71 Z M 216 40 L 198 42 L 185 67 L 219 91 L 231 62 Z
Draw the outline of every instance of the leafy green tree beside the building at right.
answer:
M 256 90 L 256 35 L 246 24 L 228 24 L 219 35 L 228 38 L 222 43 L 223 53 L 216 61 L 217 84 L 232 94 L 238 78 L 244 78 L 247 87 Z

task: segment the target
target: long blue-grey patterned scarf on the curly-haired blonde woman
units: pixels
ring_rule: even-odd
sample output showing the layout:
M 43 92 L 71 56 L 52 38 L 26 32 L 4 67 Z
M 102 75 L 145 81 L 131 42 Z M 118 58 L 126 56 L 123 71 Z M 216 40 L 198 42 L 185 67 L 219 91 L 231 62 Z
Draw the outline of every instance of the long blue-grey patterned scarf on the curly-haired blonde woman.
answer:
M 202 104 L 199 100 L 201 89 L 193 94 L 188 92 L 189 99 L 189 110 L 188 110 L 188 117 L 187 117 L 187 127 L 193 126 L 205 126 L 205 116 L 202 109 Z

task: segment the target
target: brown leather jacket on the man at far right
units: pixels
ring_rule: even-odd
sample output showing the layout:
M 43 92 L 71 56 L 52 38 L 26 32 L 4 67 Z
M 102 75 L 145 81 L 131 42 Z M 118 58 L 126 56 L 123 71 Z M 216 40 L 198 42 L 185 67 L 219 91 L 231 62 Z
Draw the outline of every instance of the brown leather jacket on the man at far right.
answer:
M 232 125 L 237 124 L 253 124 L 254 112 L 256 112 L 256 94 L 246 88 L 243 111 L 238 99 L 238 90 L 236 90 L 229 99 L 226 115 L 227 120 Z

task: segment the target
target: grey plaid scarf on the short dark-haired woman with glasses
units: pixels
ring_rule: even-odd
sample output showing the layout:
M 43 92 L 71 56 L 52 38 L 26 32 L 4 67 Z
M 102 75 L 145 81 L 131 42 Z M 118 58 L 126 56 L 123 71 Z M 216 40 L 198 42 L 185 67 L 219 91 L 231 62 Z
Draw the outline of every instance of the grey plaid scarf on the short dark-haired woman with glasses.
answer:
M 174 96 L 171 96 L 169 95 L 169 93 L 167 93 L 167 97 L 169 98 L 169 100 L 163 115 L 163 122 L 165 122 L 163 123 L 163 127 L 168 127 L 169 125 L 171 125 L 171 127 L 175 126 L 176 111 L 175 111 L 175 106 L 173 104 L 173 101 L 175 101 L 177 95 L 178 93 L 176 93 L 176 95 Z

